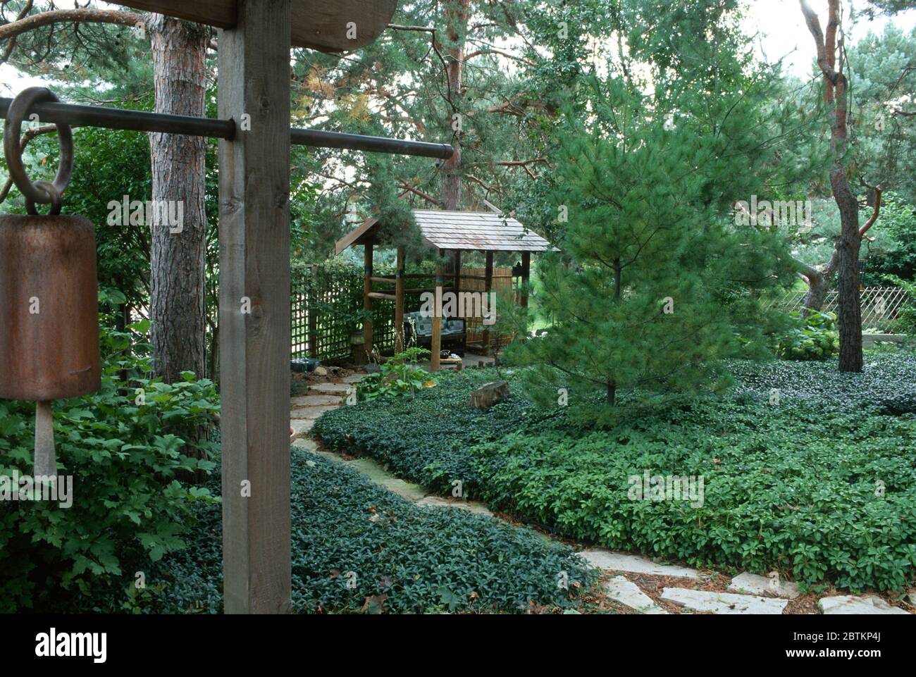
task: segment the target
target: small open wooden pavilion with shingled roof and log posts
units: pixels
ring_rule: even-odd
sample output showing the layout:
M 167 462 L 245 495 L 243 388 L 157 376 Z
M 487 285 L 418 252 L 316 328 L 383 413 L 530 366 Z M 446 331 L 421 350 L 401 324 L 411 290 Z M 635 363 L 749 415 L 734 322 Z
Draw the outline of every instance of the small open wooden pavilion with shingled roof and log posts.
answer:
M 442 288 L 442 293 L 447 291 L 458 292 L 462 290 L 463 279 L 474 279 L 483 282 L 483 291 L 489 293 L 493 287 L 493 255 L 495 252 L 520 252 L 520 276 L 523 284 L 529 281 L 531 252 L 543 252 L 552 249 L 551 244 L 540 235 L 526 230 L 525 226 L 515 219 L 502 213 L 492 212 L 444 212 L 435 210 L 415 209 L 414 219 L 420 226 L 420 235 L 423 243 L 439 253 L 439 261 L 435 274 L 406 273 L 404 270 L 404 247 L 398 246 L 398 264 L 395 275 L 373 275 L 373 252 L 378 244 L 378 234 L 386 227 L 376 218 L 365 220 L 353 232 L 344 235 L 336 244 L 335 254 L 341 254 L 350 246 L 362 245 L 364 247 L 365 281 L 363 284 L 363 308 L 372 311 L 373 300 L 391 300 L 395 303 L 395 349 L 403 348 L 404 327 L 404 298 L 408 294 L 435 292 L 442 288 L 444 278 L 452 278 L 448 288 Z M 466 274 L 462 272 L 462 252 L 478 251 L 485 253 L 484 275 Z M 441 260 L 447 254 L 452 256 L 452 272 L 442 270 Z M 435 287 L 405 289 L 406 280 L 435 278 Z M 394 285 L 391 291 L 373 291 L 373 283 Z M 528 296 L 522 294 L 522 306 L 528 305 Z M 431 370 L 439 370 L 440 349 L 442 347 L 442 318 L 438 317 L 442 309 L 436 308 L 436 316 L 432 320 L 431 341 Z M 489 330 L 485 330 L 484 344 L 489 345 Z M 366 352 L 372 352 L 372 322 L 366 321 L 363 325 L 363 345 Z

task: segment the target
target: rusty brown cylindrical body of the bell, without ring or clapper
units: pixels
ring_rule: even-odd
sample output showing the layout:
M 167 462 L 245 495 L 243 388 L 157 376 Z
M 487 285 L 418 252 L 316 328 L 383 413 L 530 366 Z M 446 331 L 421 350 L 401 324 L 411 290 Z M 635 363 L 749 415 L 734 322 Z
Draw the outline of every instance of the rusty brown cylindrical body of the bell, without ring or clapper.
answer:
M 0 399 L 101 388 L 95 232 L 82 216 L 0 216 Z

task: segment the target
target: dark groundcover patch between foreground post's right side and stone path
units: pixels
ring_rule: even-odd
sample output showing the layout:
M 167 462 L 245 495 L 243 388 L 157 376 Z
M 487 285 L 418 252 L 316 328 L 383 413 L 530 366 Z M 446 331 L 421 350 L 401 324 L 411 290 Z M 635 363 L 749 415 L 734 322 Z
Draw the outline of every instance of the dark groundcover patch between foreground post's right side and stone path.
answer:
M 463 510 L 418 508 L 354 470 L 293 453 L 298 611 L 518 613 L 529 604 L 573 606 L 590 580 L 570 548 L 532 531 Z M 561 572 L 569 590 L 557 584 Z

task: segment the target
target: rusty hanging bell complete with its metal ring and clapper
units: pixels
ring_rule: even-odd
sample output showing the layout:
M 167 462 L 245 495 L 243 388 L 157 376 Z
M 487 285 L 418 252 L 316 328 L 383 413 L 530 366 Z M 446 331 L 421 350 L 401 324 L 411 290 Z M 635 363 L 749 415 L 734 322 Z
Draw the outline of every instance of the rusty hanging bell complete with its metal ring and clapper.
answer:
M 60 215 L 73 162 L 70 128 L 58 126 L 53 183 L 33 183 L 22 165 L 22 120 L 40 101 L 57 97 L 33 87 L 10 104 L 6 162 L 29 213 L 0 216 L 0 399 L 36 402 L 36 477 L 57 475 L 51 400 L 92 393 L 102 378 L 93 224 Z M 36 202 L 49 203 L 50 214 L 38 215 Z

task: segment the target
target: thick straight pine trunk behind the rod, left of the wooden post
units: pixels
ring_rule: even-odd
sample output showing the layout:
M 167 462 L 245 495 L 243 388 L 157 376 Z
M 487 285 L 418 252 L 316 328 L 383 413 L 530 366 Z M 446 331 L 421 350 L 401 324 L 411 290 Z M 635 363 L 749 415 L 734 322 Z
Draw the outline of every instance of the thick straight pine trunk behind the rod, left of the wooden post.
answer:
M 178 19 L 150 16 L 156 112 L 204 115 L 209 30 Z M 150 331 L 154 366 L 167 383 L 182 371 L 204 369 L 204 177 L 206 139 L 150 134 L 152 200 L 179 201 L 180 232 L 150 224 Z

